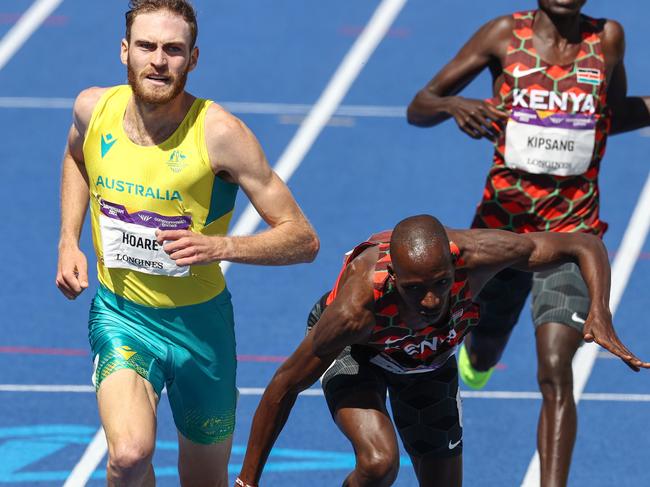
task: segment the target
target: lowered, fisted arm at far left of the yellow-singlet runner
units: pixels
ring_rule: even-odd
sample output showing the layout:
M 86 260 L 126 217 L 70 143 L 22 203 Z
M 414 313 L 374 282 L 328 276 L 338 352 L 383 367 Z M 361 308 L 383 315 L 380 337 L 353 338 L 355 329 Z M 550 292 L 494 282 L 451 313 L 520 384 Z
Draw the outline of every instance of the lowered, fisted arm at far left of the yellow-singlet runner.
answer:
M 63 154 L 61 232 L 56 285 L 68 299 L 76 298 L 88 287 L 88 262 L 79 249 L 79 238 L 89 197 L 83 142 L 93 109 L 103 92 L 102 88 L 90 88 L 82 91 L 75 100 L 73 124 Z

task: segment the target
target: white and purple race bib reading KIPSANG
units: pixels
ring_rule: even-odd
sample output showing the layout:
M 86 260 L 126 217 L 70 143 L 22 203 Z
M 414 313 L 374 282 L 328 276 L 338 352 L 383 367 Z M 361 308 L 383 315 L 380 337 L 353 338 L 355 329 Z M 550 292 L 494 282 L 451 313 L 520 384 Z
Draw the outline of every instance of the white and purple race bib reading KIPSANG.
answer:
M 576 176 L 589 168 L 595 144 L 593 115 L 515 108 L 506 126 L 505 163 L 532 174 Z

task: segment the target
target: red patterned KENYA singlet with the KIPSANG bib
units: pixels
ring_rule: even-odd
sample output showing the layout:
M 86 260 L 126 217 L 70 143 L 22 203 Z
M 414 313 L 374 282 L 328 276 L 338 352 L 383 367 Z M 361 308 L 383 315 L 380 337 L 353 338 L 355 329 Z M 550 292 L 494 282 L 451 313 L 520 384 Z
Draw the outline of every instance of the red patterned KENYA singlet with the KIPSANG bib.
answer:
M 610 124 L 602 22 L 581 17 L 579 53 L 559 66 L 535 50 L 534 19 L 535 11 L 514 14 L 496 101 L 510 119 L 472 226 L 602 236 L 598 171 Z

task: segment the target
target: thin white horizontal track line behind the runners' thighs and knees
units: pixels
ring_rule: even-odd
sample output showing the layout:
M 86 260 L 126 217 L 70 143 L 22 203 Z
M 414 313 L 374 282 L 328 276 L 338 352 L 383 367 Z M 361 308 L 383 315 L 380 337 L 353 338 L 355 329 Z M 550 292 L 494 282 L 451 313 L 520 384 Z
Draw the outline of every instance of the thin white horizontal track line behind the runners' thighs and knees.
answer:
M 261 396 L 264 394 L 264 387 L 239 387 L 239 394 L 242 396 Z M 93 386 L 72 385 L 72 384 L 0 384 L 0 392 L 24 392 L 24 393 L 85 393 L 95 392 Z M 163 394 L 167 391 L 163 390 Z M 322 396 L 320 388 L 307 389 L 300 393 L 301 396 Z M 500 399 L 500 400 L 536 400 L 542 399 L 537 391 L 461 391 L 463 399 Z M 582 401 L 604 401 L 604 402 L 650 402 L 650 394 L 625 394 L 612 392 L 585 392 L 581 396 Z M 100 459 L 101 460 L 101 459 Z

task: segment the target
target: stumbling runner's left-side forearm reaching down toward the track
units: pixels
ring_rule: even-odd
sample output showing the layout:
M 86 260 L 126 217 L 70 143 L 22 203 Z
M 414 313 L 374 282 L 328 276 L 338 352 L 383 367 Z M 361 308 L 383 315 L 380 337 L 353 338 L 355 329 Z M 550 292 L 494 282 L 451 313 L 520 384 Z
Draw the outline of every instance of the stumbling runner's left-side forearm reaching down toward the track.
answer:
M 326 357 L 317 357 L 312 348 L 313 330 L 277 370 L 264 391 L 253 417 L 239 474 L 247 485 L 258 484 L 271 448 L 287 422 L 298 394 L 316 382 L 341 352 L 335 350 Z

